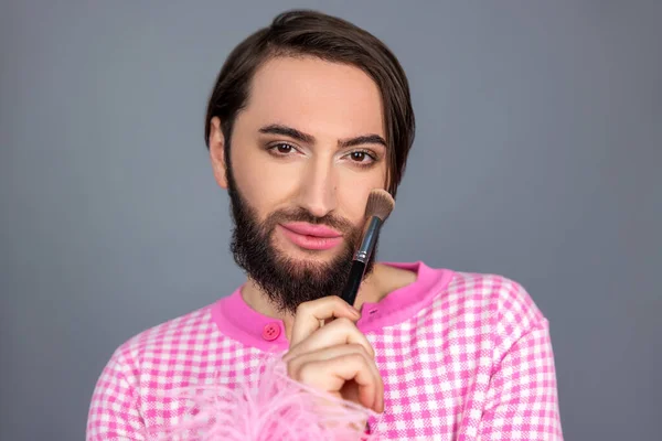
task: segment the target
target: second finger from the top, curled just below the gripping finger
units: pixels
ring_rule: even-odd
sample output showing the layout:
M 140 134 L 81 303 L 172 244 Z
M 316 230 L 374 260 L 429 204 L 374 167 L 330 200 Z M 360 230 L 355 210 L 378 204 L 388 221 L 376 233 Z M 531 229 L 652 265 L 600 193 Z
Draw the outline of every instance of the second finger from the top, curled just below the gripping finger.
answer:
M 375 356 L 375 351 L 361 331 L 356 327 L 353 321 L 345 318 L 340 318 L 333 322 L 318 329 L 308 338 L 290 346 L 289 352 L 282 357 L 285 362 L 300 354 L 321 349 L 341 344 L 360 344 L 365 347 L 365 351 Z

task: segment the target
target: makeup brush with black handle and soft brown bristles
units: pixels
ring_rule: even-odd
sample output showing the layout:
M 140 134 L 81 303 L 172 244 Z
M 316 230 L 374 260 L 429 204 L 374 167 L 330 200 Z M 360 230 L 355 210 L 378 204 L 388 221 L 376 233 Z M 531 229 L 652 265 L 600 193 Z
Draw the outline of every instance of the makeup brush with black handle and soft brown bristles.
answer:
M 393 200 L 393 196 L 391 196 L 391 194 L 388 194 L 388 192 L 385 190 L 375 189 L 367 197 L 367 204 L 365 204 L 365 223 L 367 228 L 363 234 L 361 247 L 359 247 L 354 254 L 354 260 L 350 271 L 350 279 L 348 280 L 348 284 L 345 284 L 341 295 L 341 298 L 352 306 L 354 305 L 359 287 L 361 286 L 363 275 L 365 273 L 365 266 L 367 265 L 367 261 L 370 260 L 375 248 L 380 228 L 382 228 L 382 225 L 384 225 L 384 222 L 386 222 L 386 218 L 393 211 L 395 201 Z

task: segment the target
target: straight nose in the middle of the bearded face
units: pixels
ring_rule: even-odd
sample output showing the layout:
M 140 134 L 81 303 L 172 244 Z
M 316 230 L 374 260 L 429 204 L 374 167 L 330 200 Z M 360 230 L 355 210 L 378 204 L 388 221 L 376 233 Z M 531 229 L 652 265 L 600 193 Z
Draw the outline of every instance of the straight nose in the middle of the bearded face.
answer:
M 329 159 L 322 155 L 308 164 L 301 180 L 299 205 L 316 217 L 323 217 L 335 209 L 337 176 Z

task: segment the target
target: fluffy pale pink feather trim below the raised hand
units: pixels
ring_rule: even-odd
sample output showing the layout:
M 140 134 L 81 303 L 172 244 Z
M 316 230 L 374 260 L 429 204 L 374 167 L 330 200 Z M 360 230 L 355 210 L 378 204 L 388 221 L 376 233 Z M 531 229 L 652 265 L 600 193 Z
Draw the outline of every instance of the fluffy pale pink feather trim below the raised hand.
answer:
M 266 441 L 266 440 L 377 440 L 366 433 L 366 421 L 380 415 L 297 383 L 287 376 L 279 356 L 259 366 L 252 384 L 234 388 L 197 386 L 170 394 L 192 402 L 181 422 L 147 433 L 153 440 Z M 323 407 L 323 409 L 321 409 Z M 374 426 L 373 426 L 374 427 Z

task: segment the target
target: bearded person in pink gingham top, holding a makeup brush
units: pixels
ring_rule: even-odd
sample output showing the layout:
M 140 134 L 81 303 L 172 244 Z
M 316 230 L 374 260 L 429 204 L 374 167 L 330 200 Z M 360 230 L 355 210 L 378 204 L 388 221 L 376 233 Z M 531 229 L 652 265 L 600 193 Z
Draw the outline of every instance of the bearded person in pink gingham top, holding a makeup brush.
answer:
M 517 282 L 373 254 L 356 303 L 338 295 L 366 200 L 396 196 L 414 133 L 406 75 L 365 30 L 295 10 L 238 44 L 205 142 L 246 282 L 121 344 L 87 439 L 175 426 L 186 409 L 166 392 L 236 388 L 268 353 L 292 381 L 371 410 L 384 439 L 563 439 L 549 324 Z

